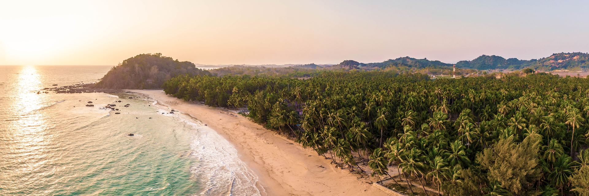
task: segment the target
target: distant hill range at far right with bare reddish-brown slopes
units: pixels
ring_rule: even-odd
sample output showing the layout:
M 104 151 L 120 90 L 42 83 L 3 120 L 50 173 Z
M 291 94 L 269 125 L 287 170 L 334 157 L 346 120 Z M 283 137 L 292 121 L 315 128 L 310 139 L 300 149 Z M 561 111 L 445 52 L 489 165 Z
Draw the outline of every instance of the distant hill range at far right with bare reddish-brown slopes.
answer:
M 583 52 L 561 52 L 550 57 L 531 60 L 517 58 L 505 59 L 499 56 L 481 55 L 472 61 L 460 61 L 456 63 L 458 68 L 469 69 L 523 69 L 532 68 L 538 70 L 554 69 L 589 69 L 589 54 Z

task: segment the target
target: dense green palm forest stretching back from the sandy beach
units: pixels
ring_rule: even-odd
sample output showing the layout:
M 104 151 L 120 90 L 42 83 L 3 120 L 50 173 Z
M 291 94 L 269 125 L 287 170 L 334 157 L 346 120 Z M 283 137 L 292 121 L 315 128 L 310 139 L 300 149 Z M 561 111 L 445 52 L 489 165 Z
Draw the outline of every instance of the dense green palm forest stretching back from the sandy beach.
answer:
M 385 177 L 386 165 L 398 165 L 445 195 L 589 195 L 586 78 L 368 71 L 305 80 L 179 76 L 163 86 L 181 99 L 237 108 L 350 171 L 368 164 Z M 399 175 L 395 183 L 413 182 Z

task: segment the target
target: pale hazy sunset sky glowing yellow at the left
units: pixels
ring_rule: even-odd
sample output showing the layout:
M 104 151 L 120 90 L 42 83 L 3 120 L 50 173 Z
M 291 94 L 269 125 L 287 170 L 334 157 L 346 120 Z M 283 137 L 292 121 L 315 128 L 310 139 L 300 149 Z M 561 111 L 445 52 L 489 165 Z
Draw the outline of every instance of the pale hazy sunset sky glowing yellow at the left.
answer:
M 0 65 L 453 63 L 589 52 L 588 1 L 7 1 Z

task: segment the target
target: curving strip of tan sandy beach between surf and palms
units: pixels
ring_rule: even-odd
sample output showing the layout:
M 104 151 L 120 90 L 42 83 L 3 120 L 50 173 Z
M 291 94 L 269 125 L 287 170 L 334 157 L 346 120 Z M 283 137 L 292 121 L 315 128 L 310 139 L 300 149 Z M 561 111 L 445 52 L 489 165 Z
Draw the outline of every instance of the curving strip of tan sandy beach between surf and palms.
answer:
M 161 90 L 129 90 L 197 118 L 219 132 L 257 174 L 266 195 L 388 195 L 365 178 L 341 170 L 312 149 L 263 128 L 246 117 L 186 102 Z M 234 115 L 230 115 L 234 114 Z

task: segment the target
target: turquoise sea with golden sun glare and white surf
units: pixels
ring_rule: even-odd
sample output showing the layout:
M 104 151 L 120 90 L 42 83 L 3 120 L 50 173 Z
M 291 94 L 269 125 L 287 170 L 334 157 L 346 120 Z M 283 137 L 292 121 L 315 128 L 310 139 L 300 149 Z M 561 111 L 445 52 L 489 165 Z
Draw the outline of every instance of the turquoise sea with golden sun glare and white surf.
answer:
M 135 94 L 42 90 L 96 82 L 110 68 L 0 66 L 0 195 L 263 192 L 233 145 L 198 119 Z

